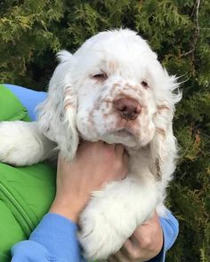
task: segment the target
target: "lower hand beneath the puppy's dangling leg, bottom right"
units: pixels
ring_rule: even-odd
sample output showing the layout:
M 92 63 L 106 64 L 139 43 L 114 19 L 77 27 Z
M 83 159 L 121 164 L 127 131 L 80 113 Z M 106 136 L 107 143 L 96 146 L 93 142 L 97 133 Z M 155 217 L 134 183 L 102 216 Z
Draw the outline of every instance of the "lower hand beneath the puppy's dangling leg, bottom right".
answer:
M 109 262 L 143 262 L 158 255 L 163 247 L 163 232 L 157 212 L 139 226 Z

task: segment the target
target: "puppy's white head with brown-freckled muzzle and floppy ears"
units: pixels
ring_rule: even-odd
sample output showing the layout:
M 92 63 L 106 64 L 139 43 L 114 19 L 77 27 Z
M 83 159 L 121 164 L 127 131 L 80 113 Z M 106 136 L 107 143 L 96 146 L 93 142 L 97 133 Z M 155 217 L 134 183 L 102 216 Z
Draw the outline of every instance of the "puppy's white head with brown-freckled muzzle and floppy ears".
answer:
M 172 133 L 174 76 L 167 75 L 149 44 L 129 29 L 102 32 L 74 55 L 60 52 L 39 115 L 44 134 L 72 158 L 78 137 L 139 149 L 149 145 L 155 171 Z M 160 152 L 161 151 L 161 152 Z M 156 153 L 155 153 L 156 152 Z

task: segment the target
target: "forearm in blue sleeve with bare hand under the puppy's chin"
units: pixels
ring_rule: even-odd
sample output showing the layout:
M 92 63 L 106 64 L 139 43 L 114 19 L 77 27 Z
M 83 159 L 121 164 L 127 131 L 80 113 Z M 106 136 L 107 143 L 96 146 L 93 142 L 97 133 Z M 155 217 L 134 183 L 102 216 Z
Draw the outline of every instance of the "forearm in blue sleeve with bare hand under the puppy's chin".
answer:
M 84 142 L 71 163 L 59 158 L 52 207 L 29 240 L 12 247 L 12 262 L 82 261 L 77 242 L 79 214 L 93 191 L 113 179 L 124 179 L 126 172 L 124 147 L 101 141 Z

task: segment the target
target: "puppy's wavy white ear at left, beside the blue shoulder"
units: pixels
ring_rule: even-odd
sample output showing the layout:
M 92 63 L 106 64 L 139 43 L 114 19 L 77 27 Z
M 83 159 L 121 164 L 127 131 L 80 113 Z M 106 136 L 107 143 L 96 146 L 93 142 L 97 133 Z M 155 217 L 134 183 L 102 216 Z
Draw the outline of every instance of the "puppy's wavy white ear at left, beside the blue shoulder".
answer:
M 40 131 L 58 144 L 61 155 L 71 160 L 78 145 L 77 93 L 71 79 L 74 58 L 67 51 L 57 56 L 60 64 L 50 80 L 47 98 L 37 108 L 38 123 Z

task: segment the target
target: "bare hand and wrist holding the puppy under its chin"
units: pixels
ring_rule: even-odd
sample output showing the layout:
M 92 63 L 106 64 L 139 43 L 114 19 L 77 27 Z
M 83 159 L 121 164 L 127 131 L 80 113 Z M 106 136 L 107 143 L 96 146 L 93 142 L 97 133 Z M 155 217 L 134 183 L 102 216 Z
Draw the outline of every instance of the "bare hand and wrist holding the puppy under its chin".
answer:
M 128 157 L 119 144 L 83 142 L 69 163 L 59 155 L 57 191 L 50 212 L 77 222 L 91 193 L 109 181 L 125 179 Z

